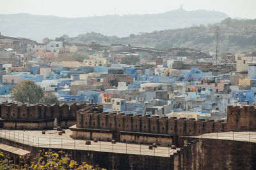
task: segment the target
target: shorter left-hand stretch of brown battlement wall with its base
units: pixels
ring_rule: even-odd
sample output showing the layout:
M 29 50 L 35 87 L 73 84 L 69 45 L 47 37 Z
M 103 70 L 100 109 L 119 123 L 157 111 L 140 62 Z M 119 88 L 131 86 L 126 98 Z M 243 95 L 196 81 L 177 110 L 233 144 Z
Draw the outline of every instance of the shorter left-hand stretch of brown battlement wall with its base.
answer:
M 1 104 L 1 122 L 8 129 L 52 129 L 54 119 L 57 126 L 68 128 L 76 124 L 76 111 L 85 104 Z

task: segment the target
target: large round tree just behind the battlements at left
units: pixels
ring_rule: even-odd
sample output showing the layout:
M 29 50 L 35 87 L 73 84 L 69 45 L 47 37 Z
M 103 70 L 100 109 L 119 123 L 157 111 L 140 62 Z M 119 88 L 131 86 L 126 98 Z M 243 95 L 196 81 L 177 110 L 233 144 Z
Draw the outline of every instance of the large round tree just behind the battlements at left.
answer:
M 11 89 L 10 94 L 16 101 L 35 104 L 44 96 L 44 90 L 34 81 L 22 80 Z

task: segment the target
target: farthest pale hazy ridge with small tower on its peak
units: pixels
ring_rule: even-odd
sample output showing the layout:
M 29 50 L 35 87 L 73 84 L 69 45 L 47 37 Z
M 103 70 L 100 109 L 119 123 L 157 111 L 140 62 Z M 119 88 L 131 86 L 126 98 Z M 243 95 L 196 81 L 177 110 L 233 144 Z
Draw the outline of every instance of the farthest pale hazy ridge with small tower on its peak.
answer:
M 68 12 L 68 11 L 67 11 Z M 106 15 L 102 17 L 63 18 L 18 13 L 0 15 L 0 31 L 5 36 L 25 37 L 42 41 L 67 34 L 77 36 L 86 32 L 100 32 L 107 36 L 129 36 L 140 32 L 160 31 L 207 25 L 228 18 L 218 11 L 186 11 L 183 9 L 158 14 Z

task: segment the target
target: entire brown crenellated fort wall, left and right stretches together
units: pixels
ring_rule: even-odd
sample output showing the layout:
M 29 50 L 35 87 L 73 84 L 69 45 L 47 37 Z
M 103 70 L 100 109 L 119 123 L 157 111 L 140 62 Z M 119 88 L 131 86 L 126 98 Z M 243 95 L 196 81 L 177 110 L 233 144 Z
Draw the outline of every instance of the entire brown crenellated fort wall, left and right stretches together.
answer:
M 221 120 L 195 120 L 186 118 L 149 117 L 124 113 L 105 113 L 97 104 L 1 104 L 2 120 L 47 120 L 57 118 L 58 125 L 77 128 L 110 129 L 115 132 L 141 132 L 175 136 L 195 136 L 211 132 L 256 129 L 254 106 L 228 106 L 227 122 Z M 69 122 L 69 123 L 67 123 Z

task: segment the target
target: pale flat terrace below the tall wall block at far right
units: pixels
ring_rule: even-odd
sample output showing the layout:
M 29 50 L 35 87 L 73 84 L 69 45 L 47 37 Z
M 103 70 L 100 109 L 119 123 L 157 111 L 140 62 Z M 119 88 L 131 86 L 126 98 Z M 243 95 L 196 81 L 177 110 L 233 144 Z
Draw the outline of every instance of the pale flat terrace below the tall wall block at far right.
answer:
M 188 137 L 188 136 L 186 136 Z M 230 132 L 216 132 L 207 133 L 200 136 L 191 136 L 191 138 L 204 138 L 204 139 L 221 139 L 231 141 L 246 141 L 256 143 L 256 131 L 230 131 Z

